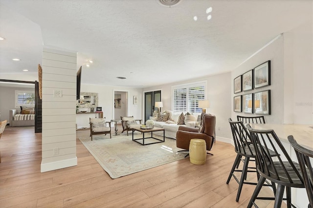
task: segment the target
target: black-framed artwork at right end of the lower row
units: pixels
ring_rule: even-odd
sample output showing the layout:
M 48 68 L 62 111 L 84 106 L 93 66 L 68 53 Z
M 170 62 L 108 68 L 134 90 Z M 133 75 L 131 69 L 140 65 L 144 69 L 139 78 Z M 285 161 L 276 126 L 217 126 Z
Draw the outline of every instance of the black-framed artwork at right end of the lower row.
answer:
M 270 115 L 270 90 L 254 93 L 253 109 L 255 114 Z

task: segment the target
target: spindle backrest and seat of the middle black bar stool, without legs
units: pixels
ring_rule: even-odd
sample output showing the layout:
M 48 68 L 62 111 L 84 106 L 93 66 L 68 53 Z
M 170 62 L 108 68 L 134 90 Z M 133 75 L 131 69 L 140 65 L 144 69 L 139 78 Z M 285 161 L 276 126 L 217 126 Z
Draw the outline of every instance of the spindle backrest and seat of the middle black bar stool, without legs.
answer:
M 278 139 L 274 130 L 256 130 L 247 125 L 254 149 L 256 151 L 256 166 L 259 173 L 273 181 L 288 187 L 303 187 L 303 179 L 286 149 Z M 262 148 L 260 148 L 263 146 Z M 269 149 L 276 153 L 277 161 L 270 157 Z M 283 162 L 282 157 L 287 159 Z M 286 161 L 286 160 L 285 160 Z

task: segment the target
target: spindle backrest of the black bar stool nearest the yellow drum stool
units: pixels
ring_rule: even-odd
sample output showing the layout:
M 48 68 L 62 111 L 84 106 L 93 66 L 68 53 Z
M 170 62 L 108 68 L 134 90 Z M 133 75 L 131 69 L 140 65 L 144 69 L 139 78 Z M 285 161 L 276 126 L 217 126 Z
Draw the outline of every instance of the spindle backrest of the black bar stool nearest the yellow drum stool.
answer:
M 254 147 L 250 142 L 249 132 L 241 121 L 228 119 L 235 143 L 235 151 L 242 155 L 255 155 Z M 250 145 L 249 145 L 250 144 Z

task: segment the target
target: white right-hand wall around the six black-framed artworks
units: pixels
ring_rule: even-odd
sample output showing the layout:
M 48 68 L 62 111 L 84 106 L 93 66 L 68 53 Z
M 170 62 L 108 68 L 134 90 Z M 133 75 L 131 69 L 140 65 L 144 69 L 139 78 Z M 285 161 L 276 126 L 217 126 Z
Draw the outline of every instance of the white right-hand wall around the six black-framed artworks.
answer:
M 251 59 L 231 73 L 232 108 L 233 97 L 246 93 L 271 90 L 271 115 L 266 115 L 267 123 L 272 124 L 313 124 L 313 64 L 312 64 L 312 21 L 306 22 L 284 33 Z M 233 93 L 233 80 L 237 76 L 271 61 L 271 85 L 247 92 Z M 231 113 L 254 116 L 256 114 Z

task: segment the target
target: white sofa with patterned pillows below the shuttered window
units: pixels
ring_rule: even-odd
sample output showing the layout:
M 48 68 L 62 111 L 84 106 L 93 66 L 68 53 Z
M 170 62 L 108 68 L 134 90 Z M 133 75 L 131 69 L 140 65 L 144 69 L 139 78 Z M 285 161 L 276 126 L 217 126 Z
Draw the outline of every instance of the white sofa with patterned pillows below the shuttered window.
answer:
M 178 131 L 178 128 L 180 126 L 180 125 L 177 124 L 180 114 L 181 114 L 181 112 L 180 113 L 172 112 L 171 119 L 174 120 L 175 124 L 167 124 L 166 122 L 156 121 L 157 120 L 156 117 L 150 117 L 150 119 L 155 121 L 155 126 L 156 127 L 164 128 L 164 130 L 165 130 L 165 137 L 176 139 L 176 132 Z M 188 126 L 188 127 L 195 127 L 196 126 L 198 114 L 194 114 L 193 116 L 195 117 L 194 121 L 188 121 L 186 124 L 184 124 L 185 126 Z M 156 131 L 154 133 L 157 134 L 157 135 L 163 136 L 163 132 L 161 132 L 161 131 Z

